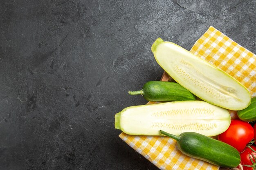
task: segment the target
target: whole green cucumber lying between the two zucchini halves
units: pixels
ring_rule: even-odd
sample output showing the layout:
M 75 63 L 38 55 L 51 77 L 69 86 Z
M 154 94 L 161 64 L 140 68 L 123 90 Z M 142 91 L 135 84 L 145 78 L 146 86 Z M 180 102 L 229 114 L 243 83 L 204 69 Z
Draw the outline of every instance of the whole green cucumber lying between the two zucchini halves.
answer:
M 195 100 L 195 96 L 186 88 L 175 82 L 146 82 L 140 91 L 129 91 L 130 95 L 143 95 L 152 102 Z

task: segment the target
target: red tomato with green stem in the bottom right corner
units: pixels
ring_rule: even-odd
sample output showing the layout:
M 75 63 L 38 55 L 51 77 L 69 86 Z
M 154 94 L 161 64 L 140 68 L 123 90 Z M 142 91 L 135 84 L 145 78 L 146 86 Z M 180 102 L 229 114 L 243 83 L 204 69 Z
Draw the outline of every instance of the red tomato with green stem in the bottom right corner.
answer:
M 256 146 L 251 146 L 253 150 L 256 151 Z M 242 153 L 240 153 L 240 157 L 241 157 L 241 164 L 242 165 L 254 165 L 254 167 L 247 167 L 247 166 L 243 166 L 244 170 L 254 170 L 256 169 L 256 160 L 254 160 L 254 157 L 252 157 L 252 154 L 254 155 L 254 157 L 256 157 L 256 152 L 253 152 L 250 148 L 246 147 L 245 151 L 243 151 Z M 253 162 L 251 161 L 251 159 L 253 160 Z

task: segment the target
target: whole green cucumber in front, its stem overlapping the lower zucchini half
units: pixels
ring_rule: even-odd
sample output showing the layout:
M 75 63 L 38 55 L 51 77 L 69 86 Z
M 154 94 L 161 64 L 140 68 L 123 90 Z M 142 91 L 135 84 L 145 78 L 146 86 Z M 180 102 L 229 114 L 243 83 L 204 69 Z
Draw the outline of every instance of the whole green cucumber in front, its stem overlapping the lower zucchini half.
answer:
M 189 157 L 200 159 L 224 168 L 234 168 L 240 163 L 240 154 L 232 146 L 195 132 L 184 132 L 175 136 L 160 130 L 177 141 L 179 150 Z

